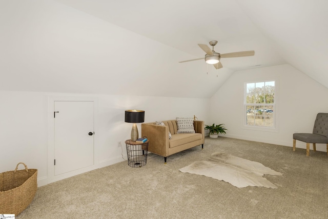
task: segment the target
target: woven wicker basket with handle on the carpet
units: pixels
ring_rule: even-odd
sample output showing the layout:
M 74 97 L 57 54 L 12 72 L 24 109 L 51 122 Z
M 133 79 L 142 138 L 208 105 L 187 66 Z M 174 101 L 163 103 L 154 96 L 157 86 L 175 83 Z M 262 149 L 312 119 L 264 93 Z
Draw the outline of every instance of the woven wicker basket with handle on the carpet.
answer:
M 23 164 L 25 170 L 17 170 Z M 0 173 L 0 213 L 18 215 L 29 206 L 37 189 L 37 169 L 18 163 L 14 171 Z

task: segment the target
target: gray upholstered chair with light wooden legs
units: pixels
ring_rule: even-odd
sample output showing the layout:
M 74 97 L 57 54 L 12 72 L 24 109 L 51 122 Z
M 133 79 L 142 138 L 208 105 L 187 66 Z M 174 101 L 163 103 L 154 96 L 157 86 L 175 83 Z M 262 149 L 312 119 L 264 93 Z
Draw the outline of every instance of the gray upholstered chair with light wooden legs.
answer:
M 328 113 L 317 114 L 312 133 L 293 134 L 293 151 L 296 149 L 296 140 L 306 143 L 306 156 L 310 156 L 311 143 L 314 151 L 316 151 L 316 143 L 326 144 L 328 155 Z

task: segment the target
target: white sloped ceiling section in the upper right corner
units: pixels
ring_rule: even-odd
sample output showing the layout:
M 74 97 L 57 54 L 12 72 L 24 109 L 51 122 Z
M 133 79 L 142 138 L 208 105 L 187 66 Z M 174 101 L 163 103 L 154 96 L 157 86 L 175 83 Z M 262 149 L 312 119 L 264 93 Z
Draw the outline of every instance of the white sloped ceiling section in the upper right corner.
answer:
M 290 65 L 328 88 L 328 1 L 237 1 Z

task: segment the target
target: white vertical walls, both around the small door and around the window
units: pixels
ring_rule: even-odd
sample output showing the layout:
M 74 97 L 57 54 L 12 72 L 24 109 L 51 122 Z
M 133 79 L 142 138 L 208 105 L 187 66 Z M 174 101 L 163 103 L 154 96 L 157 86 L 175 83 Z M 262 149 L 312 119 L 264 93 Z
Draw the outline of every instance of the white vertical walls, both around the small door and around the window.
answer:
M 243 84 L 263 79 L 278 81 L 277 132 L 243 128 Z M 122 161 L 117 142 L 124 143 L 132 128 L 124 122 L 126 109 L 145 110 L 145 122 L 196 115 L 206 124 L 226 124 L 227 137 L 292 146 L 295 131 L 312 132 L 316 114 L 328 111 L 327 95 L 327 88 L 290 65 L 235 72 L 211 99 L 0 91 L 0 172 L 24 162 L 38 169 L 39 186 L 48 183 L 48 117 L 53 115 L 48 111 L 49 96 L 98 99 L 96 167 L 103 167 Z M 301 142 L 297 146 L 305 148 Z M 325 145 L 318 144 L 317 150 L 325 151 Z

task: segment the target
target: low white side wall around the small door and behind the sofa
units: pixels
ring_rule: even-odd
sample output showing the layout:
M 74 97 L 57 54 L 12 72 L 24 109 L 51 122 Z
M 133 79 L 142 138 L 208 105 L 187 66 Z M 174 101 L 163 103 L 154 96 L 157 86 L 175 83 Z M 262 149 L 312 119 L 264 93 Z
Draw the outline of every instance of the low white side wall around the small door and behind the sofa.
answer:
M 96 167 L 123 161 L 117 142 L 123 143 L 126 155 L 124 141 L 130 138 L 132 128 L 132 124 L 124 122 L 127 109 L 145 110 L 145 122 L 193 115 L 209 121 L 210 99 L 0 91 L 0 172 L 13 170 L 17 163 L 24 162 L 29 168 L 38 169 L 39 186 L 48 183 L 48 116 L 53 116 L 48 111 L 49 96 L 98 99 Z M 137 126 L 141 134 L 141 125 Z

